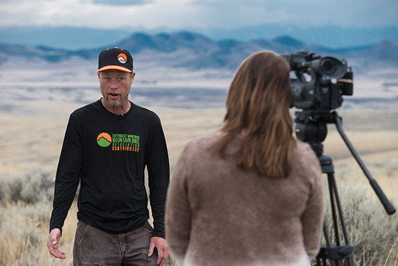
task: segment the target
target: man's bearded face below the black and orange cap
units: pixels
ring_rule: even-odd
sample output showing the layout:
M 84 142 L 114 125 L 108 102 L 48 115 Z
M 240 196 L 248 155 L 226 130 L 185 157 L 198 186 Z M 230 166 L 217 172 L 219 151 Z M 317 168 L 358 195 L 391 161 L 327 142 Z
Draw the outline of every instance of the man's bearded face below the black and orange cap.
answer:
M 118 109 L 129 99 L 129 91 L 135 75 L 135 72 L 129 73 L 114 69 L 98 73 L 101 93 L 108 107 Z

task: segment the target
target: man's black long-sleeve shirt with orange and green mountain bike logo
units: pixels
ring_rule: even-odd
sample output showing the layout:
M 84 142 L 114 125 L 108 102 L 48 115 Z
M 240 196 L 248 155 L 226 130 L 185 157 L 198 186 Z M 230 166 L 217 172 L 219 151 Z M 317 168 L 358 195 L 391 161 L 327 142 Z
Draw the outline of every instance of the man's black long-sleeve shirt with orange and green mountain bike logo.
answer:
M 153 236 L 165 238 L 165 198 L 170 166 L 161 121 L 131 103 L 124 116 L 101 100 L 69 118 L 55 179 L 51 229 L 62 229 L 80 184 L 78 220 L 109 233 L 127 233 L 149 219 L 144 170 L 148 171 Z

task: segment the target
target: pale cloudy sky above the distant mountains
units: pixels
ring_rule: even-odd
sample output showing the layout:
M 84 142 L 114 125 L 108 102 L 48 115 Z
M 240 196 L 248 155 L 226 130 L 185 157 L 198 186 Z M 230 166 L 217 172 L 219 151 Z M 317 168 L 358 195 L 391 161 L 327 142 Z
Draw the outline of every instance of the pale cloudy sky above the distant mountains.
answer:
M 398 25 L 397 0 L 0 0 L 0 27 L 143 30 L 258 24 L 378 28 Z

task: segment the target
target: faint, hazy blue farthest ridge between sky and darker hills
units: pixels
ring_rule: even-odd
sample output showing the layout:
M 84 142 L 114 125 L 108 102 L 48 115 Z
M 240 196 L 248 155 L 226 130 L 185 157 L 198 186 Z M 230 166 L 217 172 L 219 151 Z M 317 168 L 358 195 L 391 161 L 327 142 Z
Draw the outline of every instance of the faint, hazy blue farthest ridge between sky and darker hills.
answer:
M 398 26 L 377 28 L 341 27 L 332 25 L 304 26 L 300 24 L 257 24 L 240 28 L 186 28 L 210 39 L 275 39 L 280 35 L 289 35 L 309 44 L 329 48 L 363 46 L 383 41 L 398 42 Z M 46 45 L 55 48 L 93 48 L 108 45 L 109 40 L 125 39 L 132 33 L 145 31 L 146 34 L 171 33 L 175 30 L 134 28 L 82 28 L 68 26 L 0 26 L 0 42 L 27 46 Z

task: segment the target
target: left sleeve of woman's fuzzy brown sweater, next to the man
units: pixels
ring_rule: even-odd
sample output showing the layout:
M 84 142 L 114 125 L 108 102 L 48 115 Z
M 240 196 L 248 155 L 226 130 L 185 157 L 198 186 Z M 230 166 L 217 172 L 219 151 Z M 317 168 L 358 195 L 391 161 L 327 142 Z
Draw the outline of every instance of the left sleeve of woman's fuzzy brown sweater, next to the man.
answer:
M 166 236 L 168 245 L 179 265 L 183 265 L 188 244 L 192 210 L 188 200 L 189 159 L 186 150 L 181 153 L 179 161 L 172 172 L 168 200 L 166 203 Z

